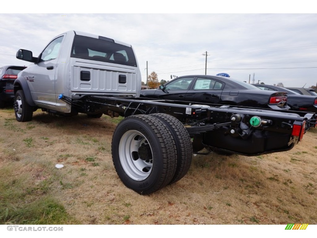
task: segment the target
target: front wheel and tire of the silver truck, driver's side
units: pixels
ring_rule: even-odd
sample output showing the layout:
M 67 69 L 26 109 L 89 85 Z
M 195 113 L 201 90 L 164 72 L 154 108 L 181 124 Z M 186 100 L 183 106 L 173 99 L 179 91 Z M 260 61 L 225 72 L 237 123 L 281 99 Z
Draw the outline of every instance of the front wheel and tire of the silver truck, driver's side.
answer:
M 16 91 L 13 108 L 18 122 L 29 122 L 32 120 L 33 108 L 26 101 L 23 90 Z

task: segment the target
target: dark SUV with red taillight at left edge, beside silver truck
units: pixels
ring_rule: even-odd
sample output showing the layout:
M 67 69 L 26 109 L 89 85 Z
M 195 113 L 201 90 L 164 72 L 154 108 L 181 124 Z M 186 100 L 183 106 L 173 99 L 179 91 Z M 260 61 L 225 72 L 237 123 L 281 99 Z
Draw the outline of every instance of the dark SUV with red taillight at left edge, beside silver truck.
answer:
M 13 102 L 14 91 L 13 83 L 25 66 L 6 65 L 0 66 L 0 108 L 3 108 L 6 103 Z

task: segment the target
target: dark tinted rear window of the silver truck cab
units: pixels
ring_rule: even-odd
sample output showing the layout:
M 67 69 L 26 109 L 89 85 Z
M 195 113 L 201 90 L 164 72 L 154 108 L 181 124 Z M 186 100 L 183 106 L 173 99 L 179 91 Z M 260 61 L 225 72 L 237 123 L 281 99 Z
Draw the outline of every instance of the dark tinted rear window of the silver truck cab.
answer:
M 70 56 L 137 67 L 131 47 L 114 43 L 112 39 L 105 37 L 96 39 L 76 35 Z

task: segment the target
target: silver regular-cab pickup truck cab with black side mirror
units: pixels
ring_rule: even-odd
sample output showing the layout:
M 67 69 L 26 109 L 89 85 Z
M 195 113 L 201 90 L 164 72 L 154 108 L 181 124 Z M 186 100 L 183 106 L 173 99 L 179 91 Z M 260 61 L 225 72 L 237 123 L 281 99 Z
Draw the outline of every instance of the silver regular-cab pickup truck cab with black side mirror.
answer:
M 14 83 L 15 94 L 19 91 L 17 117 L 24 116 L 23 99 L 33 110 L 70 113 L 71 105 L 58 100 L 59 95 L 71 99 L 140 95 L 141 75 L 134 50 L 117 40 L 67 31 L 54 37 L 38 57 L 23 49 L 16 57 L 32 62 Z

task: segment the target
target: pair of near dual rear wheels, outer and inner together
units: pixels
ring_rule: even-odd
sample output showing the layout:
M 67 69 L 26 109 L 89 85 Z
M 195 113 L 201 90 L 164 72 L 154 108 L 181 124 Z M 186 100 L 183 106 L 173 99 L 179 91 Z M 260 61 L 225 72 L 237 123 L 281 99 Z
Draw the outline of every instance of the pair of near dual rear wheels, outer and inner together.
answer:
M 151 194 L 186 175 L 191 139 L 173 116 L 129 116 L 114 131 L 112 156 L 117 174 L 128 188 Z

